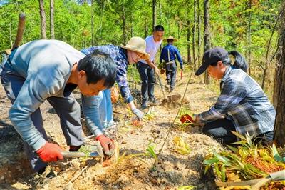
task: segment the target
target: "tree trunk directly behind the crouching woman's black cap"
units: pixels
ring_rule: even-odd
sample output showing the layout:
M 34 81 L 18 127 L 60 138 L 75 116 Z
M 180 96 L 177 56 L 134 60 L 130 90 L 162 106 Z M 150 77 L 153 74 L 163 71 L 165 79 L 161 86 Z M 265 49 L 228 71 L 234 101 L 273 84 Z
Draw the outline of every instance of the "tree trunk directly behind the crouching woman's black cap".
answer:
M 209 29 L 209 0 L 204 0 L 204 51 L 211 49 Z M 209 84 L 209 75 L 207 70 L 204 74 L 204 83 Z

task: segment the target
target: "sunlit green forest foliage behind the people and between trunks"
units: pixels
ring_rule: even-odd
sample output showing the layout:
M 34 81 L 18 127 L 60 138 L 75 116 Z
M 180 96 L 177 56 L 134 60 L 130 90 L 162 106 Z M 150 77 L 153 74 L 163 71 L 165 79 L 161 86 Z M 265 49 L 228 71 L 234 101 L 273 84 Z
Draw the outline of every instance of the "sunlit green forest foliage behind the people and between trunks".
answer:
M 252 9 L 249 9 L 249 1 L 252 3 Z M 49 36 L 49 1 L 44 1 L 44 4 L 46 33 Z M 259 83 L 262 76 L 261 66 L 265 62 L 266 46 L 276 22 L 280 4 L 281 0 L 210 0 L 212 46 L 237 50 L 244 56 L 247 56 L 250 49 L 254 68 L 252 75 Z M 127 41 L 131 36 L 145 38 L 152 33 L 152 0 L 93 0 L 93 6 L 94 45 L 123 44 L 123 6 Z M 197 12 L 199 11 L 201 15 L 201 41 L 204 33 L 203 7 L 204 1 L 199 0 Z M 18 14 L 21 11 L 26 13 L 23 43 L 41 38 L 38 1 L 0 1 L 0 50 L 11 47 L 16 36 Z M 252 14 L 250 46 L 247 42 L 249 13 Z M 188 19 L 190 26 L 187 26 Z M 157 0 L 157 24 L 165 26 L 165 36 L 172 35 L 179 39 L 175 45 L 180 49 L 185 60 L 187 44 L 192 44 L 192 36 L 190 41 L 187 41 L 187 28 L 190 27 L 192 32 L 193 24 L 197 24 L 197 21 L 193 23 L 193 20 L 193 0 Z M 56 0 L 54 22 L 56 39 L 66 41 L 76 49 L 91 46 L 90 1 Z M 275 32 L 269 54 L 274 54 L 277 39 L 277 32 Z M 195 41 L 197 44 L 197 31 Z M 201 54 L 203 49 L 201 44 Z

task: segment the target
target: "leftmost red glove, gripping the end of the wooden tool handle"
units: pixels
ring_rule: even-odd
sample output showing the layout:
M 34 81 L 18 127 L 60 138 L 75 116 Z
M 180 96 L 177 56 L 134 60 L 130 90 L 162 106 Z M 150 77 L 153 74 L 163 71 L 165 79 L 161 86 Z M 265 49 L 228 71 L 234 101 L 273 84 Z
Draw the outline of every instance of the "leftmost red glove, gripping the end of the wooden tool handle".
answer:
M 44 162 L 49 161 L 58 161 L 63 159 L 63 155 L 61 154 L 61 147 L 57 144 L 52 144 L 46 142 L 45 145 L 36 151 L 36 154 L 41 158 Z

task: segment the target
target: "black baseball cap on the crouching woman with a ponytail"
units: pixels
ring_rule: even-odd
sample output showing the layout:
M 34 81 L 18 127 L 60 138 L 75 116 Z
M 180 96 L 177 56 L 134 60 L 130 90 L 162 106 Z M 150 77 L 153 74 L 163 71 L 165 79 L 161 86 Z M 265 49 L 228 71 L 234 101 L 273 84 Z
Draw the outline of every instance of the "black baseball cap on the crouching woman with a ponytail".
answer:
M 195 75 L 199 76 L 200 74 L 204 73 L 210 64 L 215 64 L 218 61 L 224 61 L 228 58 L 229 53 L 221 47 L 209 49 L 208 51 L 204 52 L 202 65 L 195 72 Z

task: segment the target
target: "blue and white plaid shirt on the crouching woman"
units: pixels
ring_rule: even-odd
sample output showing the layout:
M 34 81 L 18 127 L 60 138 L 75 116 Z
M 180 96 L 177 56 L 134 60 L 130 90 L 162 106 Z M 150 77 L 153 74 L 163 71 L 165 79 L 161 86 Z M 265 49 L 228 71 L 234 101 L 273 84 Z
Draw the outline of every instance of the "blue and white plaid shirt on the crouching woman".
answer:
M 259 84 L 241 69 L 229 66 L 221 81 L 221 94 L 209 111 L 199 114 L 201 121 L 227 118 L 239 134 L 256 137 L 274 130 L 275 109 Z

